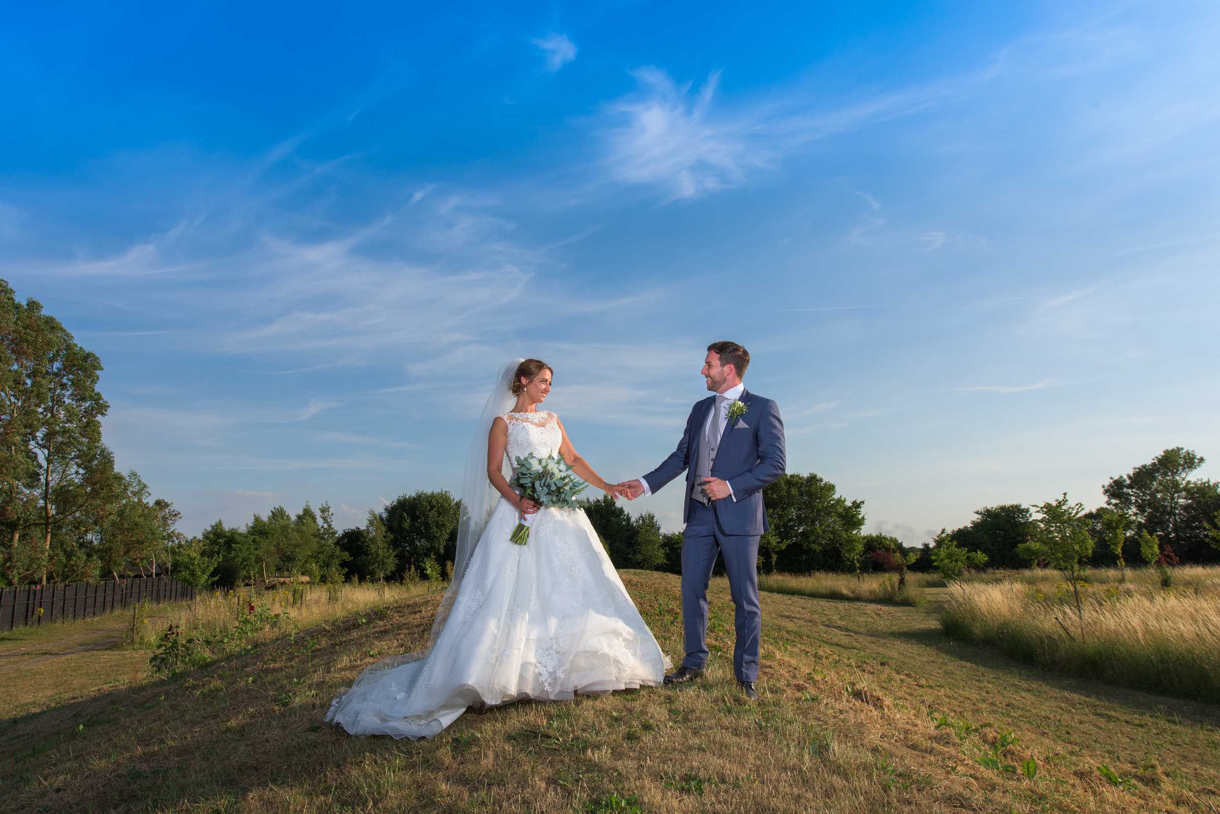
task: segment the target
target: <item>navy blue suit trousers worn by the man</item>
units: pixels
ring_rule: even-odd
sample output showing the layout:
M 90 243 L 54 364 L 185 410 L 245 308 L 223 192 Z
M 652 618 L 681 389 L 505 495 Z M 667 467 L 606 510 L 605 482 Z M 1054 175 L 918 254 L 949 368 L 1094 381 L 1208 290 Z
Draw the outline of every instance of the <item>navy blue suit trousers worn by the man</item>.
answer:
M 717 552 L 725 558 L 728 591 L 737 608 L 733 617 L 737 632 L 733 673 L 738 681 L 755 681 L 762 636 L 759 536 L 725 534 L 716 523 L 715 509 L 695 500 L 691 500 L 682 534 L 682 634 L 686 648 L 682 665 L 702 670 L 708 664 L 708 581 L 716 565 Z

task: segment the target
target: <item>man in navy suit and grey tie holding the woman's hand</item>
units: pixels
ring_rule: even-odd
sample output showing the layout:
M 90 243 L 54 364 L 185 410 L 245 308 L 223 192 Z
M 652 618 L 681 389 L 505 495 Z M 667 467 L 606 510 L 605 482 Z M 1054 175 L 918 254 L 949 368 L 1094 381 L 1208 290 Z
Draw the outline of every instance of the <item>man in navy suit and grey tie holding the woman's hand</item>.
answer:
M 725 558 L 728 590 L 737 607 L 733 673 L 748 698 L 758 698 L 759 537 L 767 530 L 762 487 L 783 474 L 783 422 L 770 398 L 745 390 L 742 377 L 750 355 L 737 342 L 708 346 L 700 372 L 716 395 L 695 402 L 678 448 L 653 472 L 620 486 L 631 498 L 651 495 L 686 476 L 682 519 L 682 626 L 686 658 L 665 684 L 686 684 L 703 675 L 708 664 L 708 580 L 716 552 Z

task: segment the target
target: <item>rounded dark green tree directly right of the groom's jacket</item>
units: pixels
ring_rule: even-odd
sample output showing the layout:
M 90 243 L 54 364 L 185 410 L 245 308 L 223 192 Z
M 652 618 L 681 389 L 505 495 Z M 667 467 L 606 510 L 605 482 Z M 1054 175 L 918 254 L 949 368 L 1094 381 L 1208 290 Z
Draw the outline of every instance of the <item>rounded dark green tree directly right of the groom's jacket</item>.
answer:
M 765 550 L 771 570 L 858 570 L 864 501 L 848 502 L 828 480 L 795 473 L 781 475 L 762 497 L 773 533 Z

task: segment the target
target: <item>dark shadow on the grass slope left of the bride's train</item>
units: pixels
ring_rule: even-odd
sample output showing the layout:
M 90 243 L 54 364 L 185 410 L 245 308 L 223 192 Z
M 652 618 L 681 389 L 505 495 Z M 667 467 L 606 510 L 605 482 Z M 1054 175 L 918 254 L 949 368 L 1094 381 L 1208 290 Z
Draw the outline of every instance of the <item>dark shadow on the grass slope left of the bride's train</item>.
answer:
M 368 651 L 401 639 L 401 617 L 411 610 L 421 619 L 412 631 L 418 636 L 431 614 L 405 606 L 425 603 L 405 602 L 401 614 L 364 625 L 361 614 L 351 614 L 329 630 L 318 625 L 295 642 L 278 637 L 172 681 L 9 719 L 0 729 L 0 810 L 181 809 L 204 802 L 226 810 L 250 791 L 309 785 L 368 753 L 429 748 L 354 738 L 322 721 L 353 670 L 375 660 Z M 306 652 L 305 639 L 322 646 Z M 350 663 L 354 656 L 359 660 Z

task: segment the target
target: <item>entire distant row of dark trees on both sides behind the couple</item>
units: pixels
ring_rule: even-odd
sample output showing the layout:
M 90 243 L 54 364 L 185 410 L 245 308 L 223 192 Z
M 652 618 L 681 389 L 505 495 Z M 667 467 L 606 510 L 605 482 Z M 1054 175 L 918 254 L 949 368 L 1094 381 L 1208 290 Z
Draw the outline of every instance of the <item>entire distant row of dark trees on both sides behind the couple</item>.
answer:
M 771 529 L 759 542 L 759 568 L 787 573 L 1025 568 L 1048 561 L 1039 556 L 1048 535 L 1068 526 L 1088 537 L 1082 564 L 1218 562 L 1220 484 L 1191 480 L 1202 464 L 1203 458 L 1190 450 L 1166 450 L 1152 463 L 1111 478 L 1103 487 L 1107 503 L 1092 512 L 1072 508 L 1066 496 L 1037 507 L 1038 518 L 1031 512 L 1035 507 L 989 506 L 977 509 L 970 524 L 942 529 L 920 547 L 889 535 L 864 534 L 864 501 L 847 500 L 820 475 L 788 473 L 764 490 Z M 615 568 L 682 572 L 682 533 L 662 531 L 651 512 L 632 517 L 609 495 L 582 507 Z M 449 492 L 417 491 L 381 512 L 370 509 L 362 526 L 340 533 L 326 503 L 317 513 L 306 504 L 295 517 L 277 507 L 267 517 L 255 514 L 244 528 L 226 528 L 217 520 L 201 537 L 179 546 L 177 562 L 201 557 L 206 567 L 199 574 L 201 582 L 220 585 L 265 581 L 268 574 L 331 582 L 439 580 L 449 576 L 460 514 L 461 503 Z M 184 573 L 192 567 L 181 568 Z M 721 564 L 716 568 L 722 572 Z

